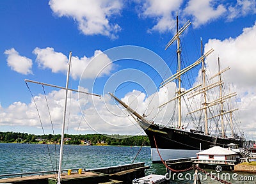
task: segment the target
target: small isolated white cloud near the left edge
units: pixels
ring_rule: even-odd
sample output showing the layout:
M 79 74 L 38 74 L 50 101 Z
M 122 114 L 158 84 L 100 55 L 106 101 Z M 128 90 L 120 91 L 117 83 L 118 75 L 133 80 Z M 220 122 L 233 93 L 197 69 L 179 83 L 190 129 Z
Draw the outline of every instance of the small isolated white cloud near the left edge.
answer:
M 4 54 L 7 55 L 7 65 L 15 72 L 22 73 L 24 75 L 32 74 L 32 60 L 28 57 L 20 56 L 14 48 L 5 50 Z

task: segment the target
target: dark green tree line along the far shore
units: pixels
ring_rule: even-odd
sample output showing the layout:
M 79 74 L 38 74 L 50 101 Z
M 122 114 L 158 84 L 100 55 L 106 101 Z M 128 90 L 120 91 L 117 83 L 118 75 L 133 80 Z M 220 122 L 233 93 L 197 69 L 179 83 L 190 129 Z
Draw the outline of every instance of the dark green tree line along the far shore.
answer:
M 122 146 L 150 146 L 147 135 L 102 135 L 102 134 L 65 134 L 65 144 L 86 144 L 91 145 L 122 145 Z M 61 135 L 47 134 L 35 135 L 19 132 L 0 132 L 0 142 L 18 142 L 18 143 L 47 143 L 59 144 Z

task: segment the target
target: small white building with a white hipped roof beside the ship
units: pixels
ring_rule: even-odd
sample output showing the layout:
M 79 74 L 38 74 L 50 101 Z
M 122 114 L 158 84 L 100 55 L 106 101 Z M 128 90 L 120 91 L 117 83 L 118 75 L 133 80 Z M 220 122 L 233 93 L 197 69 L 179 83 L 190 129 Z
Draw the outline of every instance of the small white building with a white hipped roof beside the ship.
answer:
M 214 146 L 196 153 L 198 160 L 236 160 L 237 153 L 220 146 Z

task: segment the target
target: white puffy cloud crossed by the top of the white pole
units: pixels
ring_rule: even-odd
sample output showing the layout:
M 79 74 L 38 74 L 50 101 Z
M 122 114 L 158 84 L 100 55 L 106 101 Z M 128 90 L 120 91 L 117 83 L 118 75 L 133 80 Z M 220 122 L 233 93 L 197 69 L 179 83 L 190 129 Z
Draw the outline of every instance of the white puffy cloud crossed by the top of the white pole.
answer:
M 55 52 L 53 48 L 47 47 L 46 49 L 40 49 L 36 47 L 33 50 L 33 54 L 36 54 L 36 62 L 38 66 L 42 68 L 49 68 L 52 72 L 66 72 L 68 65 L 68 57 L 61 52 Z M 95 50 L 94 56 L 81 58 L 72 56 L 72 78 L 80 79 L 101 77 L 102 75 L 108 75 L 113 69 L 113 63 L 111 59 L 101 52 Z M 84 73 L 83 73 L 84 72 Z

